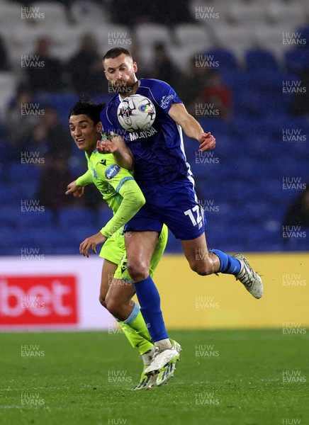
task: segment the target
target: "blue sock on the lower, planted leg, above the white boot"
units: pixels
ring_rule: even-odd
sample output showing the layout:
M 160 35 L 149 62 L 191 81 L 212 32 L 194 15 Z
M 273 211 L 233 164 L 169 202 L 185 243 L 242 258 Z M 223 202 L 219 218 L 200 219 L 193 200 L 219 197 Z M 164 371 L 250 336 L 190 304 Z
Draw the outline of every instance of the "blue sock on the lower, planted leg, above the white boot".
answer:
M 151 276 L 134 283 L 135 292 L 140 302 L 140 312 L 144 317 L 152 341 L 167 339 L 167 329 L 160 308 L 160 296 Z

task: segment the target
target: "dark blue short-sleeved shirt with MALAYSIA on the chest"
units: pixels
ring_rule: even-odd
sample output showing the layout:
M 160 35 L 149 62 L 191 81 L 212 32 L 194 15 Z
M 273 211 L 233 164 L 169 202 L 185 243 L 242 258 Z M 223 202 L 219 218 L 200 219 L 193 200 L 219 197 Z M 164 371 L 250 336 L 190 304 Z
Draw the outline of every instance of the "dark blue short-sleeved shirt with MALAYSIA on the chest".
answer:
M 136 94 L 150 98 L 156 108 L 152 127 L 145 131 L 128 132 L 117 118 L 121 101 L 118 94 L 113 96 L 101 112 L 103 132 L 122 135 L 135 159 L 135 180 L 145 188 L 152 183 L 167 183 L 179 176 L 191 176 L 184 153 L 182 130 L 168 115 L 173 103 L 182 103 L 174 89 L 164 81 L 140 79 Z

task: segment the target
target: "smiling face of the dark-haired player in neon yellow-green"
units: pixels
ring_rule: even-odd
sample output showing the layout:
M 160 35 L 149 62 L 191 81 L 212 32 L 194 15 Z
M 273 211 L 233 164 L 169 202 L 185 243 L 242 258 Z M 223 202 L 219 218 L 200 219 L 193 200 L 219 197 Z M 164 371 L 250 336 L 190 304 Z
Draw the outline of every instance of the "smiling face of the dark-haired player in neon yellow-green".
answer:
M 71 115 L 69 131 L 77 147 L 87 153 L 94 152 L 97 140 L 101 139 L 101 123 L 94 124 L 88 115 Z

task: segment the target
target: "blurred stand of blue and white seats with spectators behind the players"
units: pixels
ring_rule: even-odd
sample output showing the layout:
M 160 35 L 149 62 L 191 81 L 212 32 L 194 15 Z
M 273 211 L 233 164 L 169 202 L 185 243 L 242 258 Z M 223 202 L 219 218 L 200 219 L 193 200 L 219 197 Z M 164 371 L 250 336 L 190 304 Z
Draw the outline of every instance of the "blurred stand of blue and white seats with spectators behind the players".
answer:
M 77 254 L 108 220 L 94 188 L 64 196 L 86 169 L 67 115 L 80 94 L 113 96 L 101 57 L 115 46 L 216 137 L 203 155 L 185 137 L 210 248 L 307 250 L 308 19 L 305 0 L 1 1 L 0 254 Z

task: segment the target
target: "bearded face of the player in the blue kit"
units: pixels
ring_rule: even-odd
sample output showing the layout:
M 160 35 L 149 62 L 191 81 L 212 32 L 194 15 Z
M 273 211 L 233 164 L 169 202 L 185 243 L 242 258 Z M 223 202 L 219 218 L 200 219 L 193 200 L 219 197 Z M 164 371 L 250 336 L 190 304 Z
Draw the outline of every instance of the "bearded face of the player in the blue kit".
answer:
M 125 55 L 124 53 L 118 57 L 106 59 L 103 62 L 104 72 L 106 79 L 110 82 L 111 86 L 116 87 L 118 92 L 123 93 L 128 91 L 137 78 L 135 72 L 137 72 L 137 64 L 133 60 Z

